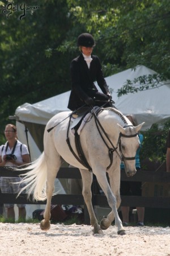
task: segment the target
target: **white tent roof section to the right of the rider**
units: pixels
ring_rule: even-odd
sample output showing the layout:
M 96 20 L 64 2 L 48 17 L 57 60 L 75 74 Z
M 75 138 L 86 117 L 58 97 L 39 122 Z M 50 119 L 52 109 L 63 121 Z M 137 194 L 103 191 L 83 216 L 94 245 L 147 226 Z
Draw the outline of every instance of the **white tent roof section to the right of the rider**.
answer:
M 158 88 L 128 93 L 120 98 L 117 97 L 117 90 L 125 84 L 126 80 L 133 81 L 139 76 L 154 74 L 156 74 L 155 71 L 140 65 L 135 69 L 128 69 L 106 78 L 109 88 L 113 89 L 112 96 L 116 107 L 125 115 L 134 114 L 138 123 L 145 122 L 142 130 L 170 118 L 170 81 L 162 82 Z

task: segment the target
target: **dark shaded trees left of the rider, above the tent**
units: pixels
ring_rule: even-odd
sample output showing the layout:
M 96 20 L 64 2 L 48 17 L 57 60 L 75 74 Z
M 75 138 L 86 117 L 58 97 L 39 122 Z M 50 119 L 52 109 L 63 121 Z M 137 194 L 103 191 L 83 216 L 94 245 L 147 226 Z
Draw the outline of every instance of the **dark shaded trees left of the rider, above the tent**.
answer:
M 69 65 L 73 53 L 57 49 L 72 27 L 66 0 L 25 2 L 25 6 L 39 8 L 26 11 L 21 20 L 23 1 L 3 0 L 0 5 L 2 138 L 8 115 L 14 114 L 19 105 L 32 104 L 70 89 Z M 19 11 L 9 10 L 9 5 L 11 10 L 18 6 Z

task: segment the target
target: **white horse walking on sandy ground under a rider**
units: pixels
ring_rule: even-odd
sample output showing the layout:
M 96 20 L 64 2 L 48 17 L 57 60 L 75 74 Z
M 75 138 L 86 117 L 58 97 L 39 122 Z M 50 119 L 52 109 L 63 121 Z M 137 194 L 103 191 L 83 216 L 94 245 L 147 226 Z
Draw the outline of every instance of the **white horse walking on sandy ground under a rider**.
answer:
M 50 205 L 54 195 L 54 180 L 64 159 L 80 170 L 83 181 L 82 194 L 90 214 L 90 223 L 94 227 L 94 234 L 103 234 L 102 229 L 109 228 L 114 218 L 118 228 L 117 233 L 125 234 L 117 212 L 121 203 L 120 163 L 124 161 L 126 175 L 130 177 L 135 174 L 135 154 L 139 147 L 137 133 L 143 123 L 134 127 L 129 119 L 117 109 L 106 108 L 97 117 L 94 114 L 80 133 L 84 156 L 112 209 L 99 225 L 91 203 L 92 172 L 77 159 L 79 155 L 76 151 L 74 135 L 68 129 L 70 114 L 71 112 L 62 112 L 49 120 L 44 132 L 44 152 L 32 163 L 32 170 L 24 174 L 23 182 L 27 185 L 23 189 L 28 188 L 28 195 L 33 192 L 33 199 L 47 199 L 44 220 L 41 221 L 40 228 L 42 230 L 50 228 Z M 76 157 L 70 151 L 68 140 Z M 22 170 L 30 170 L 30 166 Z M 109 175 L 110 185 L 106 172 Z

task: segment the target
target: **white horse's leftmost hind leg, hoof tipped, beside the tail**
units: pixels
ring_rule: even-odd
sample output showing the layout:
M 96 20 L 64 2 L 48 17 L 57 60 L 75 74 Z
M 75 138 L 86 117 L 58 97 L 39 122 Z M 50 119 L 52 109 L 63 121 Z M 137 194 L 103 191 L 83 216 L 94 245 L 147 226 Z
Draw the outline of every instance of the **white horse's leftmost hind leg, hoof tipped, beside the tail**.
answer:
M 45 211 L 44 211 L 44 220 L 40 222 L 40 228 L 42 230 L 48 230 L 50 229 L 50 207 L 51 207 L 51 202 L 52 202 L 52 196 L 54 193 L 54 181 L 56 179 L 56 170 L 52 173 L 50 173 L 50 176 L 47 175 L 47 180 L 46 180 L 46 206 L 45 206 Z

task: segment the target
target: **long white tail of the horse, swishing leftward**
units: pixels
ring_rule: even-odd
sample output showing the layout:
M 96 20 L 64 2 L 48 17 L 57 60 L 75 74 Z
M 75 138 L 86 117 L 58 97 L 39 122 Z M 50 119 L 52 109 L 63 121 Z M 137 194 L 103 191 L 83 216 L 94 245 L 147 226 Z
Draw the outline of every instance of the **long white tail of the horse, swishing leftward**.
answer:
M 31 169 L 31 171 L 29 171 Z M 26 174 L 21 174 L 23 177 L 20 183 L 26 183 L 24 188 L 22 188 L 18 194 L 20 195 L 25 189 L 27 189 L 28 198 L 33 192 L 33 200 L 45 200 L 46 199 L 46 176 L 47 176 L 47 167 L 45 162 L 44 152 L 31 163 L 31 166 L 20 169 L 20 171 L 27 171 Z

